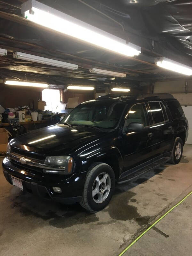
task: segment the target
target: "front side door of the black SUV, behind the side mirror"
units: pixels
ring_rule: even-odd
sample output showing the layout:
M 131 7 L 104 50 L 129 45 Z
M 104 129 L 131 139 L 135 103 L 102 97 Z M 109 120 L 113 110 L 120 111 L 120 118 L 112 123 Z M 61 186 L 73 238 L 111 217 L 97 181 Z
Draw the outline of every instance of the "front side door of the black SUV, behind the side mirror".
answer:
M 143 124 L 141 131 L 128 129 L 130 123 Z M 149 129 L 148 111 L 145 103 L 138 103 L 127 113 L 122 132 L 124 171 L 148 161 L 152 156 L 151 132 Z

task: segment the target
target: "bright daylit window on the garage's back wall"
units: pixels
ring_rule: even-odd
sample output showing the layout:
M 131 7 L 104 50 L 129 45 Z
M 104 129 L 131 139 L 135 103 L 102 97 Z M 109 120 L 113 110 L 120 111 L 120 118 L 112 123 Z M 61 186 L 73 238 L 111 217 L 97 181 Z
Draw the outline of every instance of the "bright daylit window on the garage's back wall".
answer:
M 44 89 L 42 91 L 42 100 L 46 102 L 45 110 L 58 112 L 57 106 L 60 104 L 60 90 Z

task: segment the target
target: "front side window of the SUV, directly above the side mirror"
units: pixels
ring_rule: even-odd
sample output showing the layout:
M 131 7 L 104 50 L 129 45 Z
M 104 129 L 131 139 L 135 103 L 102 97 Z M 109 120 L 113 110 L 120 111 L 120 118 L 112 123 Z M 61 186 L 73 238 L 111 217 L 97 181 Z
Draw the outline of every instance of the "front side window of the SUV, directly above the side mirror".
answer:
M 140 123 L 143 124 L 143 126 L 149 125 L 145 103 L 139 103 L 132 106 L 128 112 L 124 128 L 126 128 L 130 123 Z

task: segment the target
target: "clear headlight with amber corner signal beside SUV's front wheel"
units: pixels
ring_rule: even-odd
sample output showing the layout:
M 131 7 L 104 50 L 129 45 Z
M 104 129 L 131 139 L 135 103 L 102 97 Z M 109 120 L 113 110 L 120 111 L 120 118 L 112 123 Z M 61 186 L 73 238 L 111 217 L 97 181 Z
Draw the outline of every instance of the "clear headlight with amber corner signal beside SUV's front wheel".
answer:
M 71 156 L 47 156 L 43 172 L 54 174 L 70 174 L 73 169 L 73 157 Z M 47 167 L 47 168 L 46 168 Z

